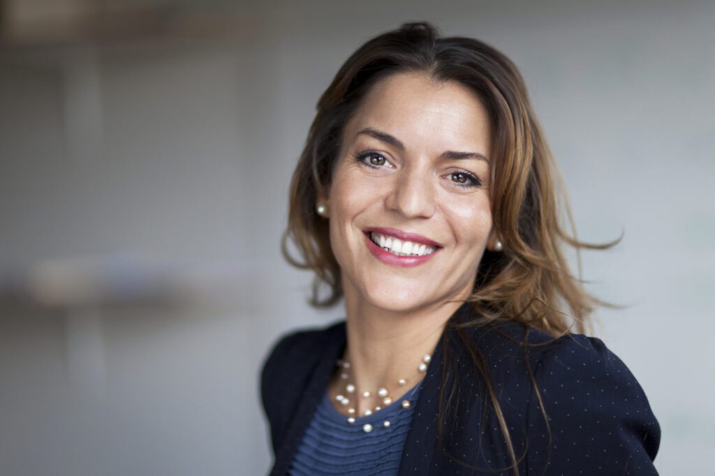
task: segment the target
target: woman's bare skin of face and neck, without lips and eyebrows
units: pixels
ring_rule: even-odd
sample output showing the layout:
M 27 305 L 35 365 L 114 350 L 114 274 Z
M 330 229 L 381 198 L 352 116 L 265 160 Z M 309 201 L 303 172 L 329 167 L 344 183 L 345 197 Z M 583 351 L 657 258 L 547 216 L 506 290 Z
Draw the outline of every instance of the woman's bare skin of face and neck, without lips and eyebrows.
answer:
M 398 139 L 404 149 L 369 134 Z M 373 151 L 355 157 L 365 150 Z M 485 159 L 445 159 L 445 151 Z M 368 92 L 342 135 L 327 206 L 330 243 L 340 264 L 347 311 L 347 347 L 358 390 L 388 385 L 393 400 L 424 374 L 417 366 L 431 354 L 445 322 L 470 293 L 484 249 L 497 239 L 489 198 L 490 123 L 475 94 L 455 82 L 438 83 L 423 73 L 399 73 Z M 373 167 L 369 167 L 369 164 Z M 473 185 L 463 172 L 475 176 Z M 396 267 L 375 258 L 363 230 L 393 227 L 438 242 L 435 256 L 417 267 Z M 406 378 L 408 385 L 396 382 Z M 329 392 L 345 395 L 336 373 Z M 380 405 L 358 399 L 358 415 Z

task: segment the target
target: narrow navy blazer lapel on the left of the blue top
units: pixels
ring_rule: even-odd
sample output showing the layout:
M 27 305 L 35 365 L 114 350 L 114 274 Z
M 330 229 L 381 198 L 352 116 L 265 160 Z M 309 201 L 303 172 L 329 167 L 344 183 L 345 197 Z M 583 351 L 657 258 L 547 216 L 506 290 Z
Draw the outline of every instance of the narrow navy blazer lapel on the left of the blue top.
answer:
M 310 372 L 310 380 L 302 392 L 300 404 L 295 415 L 293 415 L 292 423 L 288 428 L 287 435 L 283 441 L 280 450 L 276 452 L 275 465 L 270 472 L 271 476 L 286 475 L 290 469 L 290 463 L 295 456 L 295 452 L 300 445 L 300 440 L 305 433 L 305 429 L 310 424 L 310 419 L 315 413 L 318 403 L 322 399 L 327 383 L 330 380 L 332 372 L 335 371 L 335 362 L 342 355 L 345 349 L 345 322 L 331 329 L 334 332 L 328 332 L 325 339 L 316 346 L 316 351 L 320 352 L 317 362 Z

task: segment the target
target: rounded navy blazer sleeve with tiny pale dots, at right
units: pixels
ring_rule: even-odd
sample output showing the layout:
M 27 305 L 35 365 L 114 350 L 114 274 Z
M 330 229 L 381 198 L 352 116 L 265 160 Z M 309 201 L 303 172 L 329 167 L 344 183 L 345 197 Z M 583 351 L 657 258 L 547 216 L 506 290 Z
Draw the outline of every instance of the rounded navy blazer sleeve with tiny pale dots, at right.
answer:
M 567 334 L 549 347 L 529 410 L 530 434 L 543 448 L 530 451 L 530 464 L 565 474 L 657 474 L 659 423 L 626 364 L 596 337 Z

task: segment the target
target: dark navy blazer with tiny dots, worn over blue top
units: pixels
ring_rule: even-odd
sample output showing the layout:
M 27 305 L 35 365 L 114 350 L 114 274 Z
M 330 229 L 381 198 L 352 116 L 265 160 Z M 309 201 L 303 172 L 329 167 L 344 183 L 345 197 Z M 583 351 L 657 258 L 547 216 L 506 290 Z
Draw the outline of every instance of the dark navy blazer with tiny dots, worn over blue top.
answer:
M 468 304 L 457 313 L 468 319 Z M 658 474 L 653 460 L 660 444 L 659 423 L 636 378 L 600 339 L 581 334 L 553 339 L 536 329 L 526 333 L 511 321 L 469 329 L 468 335 L 485 356 L 520 475 Z M 513 470 L 493 471 L 511 465 L 511 460 L 495 412 L 485 405 L 490 399 L 483 378 L 455 332 L 447 329 L 443 337 L 447 344 L 440 339 L 421 383 L 398 474 L 513 475 Z M 525 339 L 542 345 L 526 347 L 519 343 Z M 345 341 L 341 321 L 288 334 L 268 354 L 261 394 L 275 455 L 270 475 L 287 474 Z M 460 397 L 443 445 L 438 445 L 444 358 L 457 362 L 458 375 L 448 375 L 448 385 L 458 385 Z M 541 390 L 548 425 L 528 365 Z

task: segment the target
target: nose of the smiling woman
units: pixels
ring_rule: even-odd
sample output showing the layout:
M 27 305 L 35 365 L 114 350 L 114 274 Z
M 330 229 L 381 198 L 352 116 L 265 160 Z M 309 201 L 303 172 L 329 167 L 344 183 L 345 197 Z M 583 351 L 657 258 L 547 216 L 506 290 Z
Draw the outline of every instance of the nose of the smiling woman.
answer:
M 385 206 L 407 218 L 429 218 L 435 213 L 434 184 L 422 167 L 405 167 L 396 174 Z

